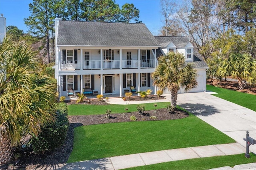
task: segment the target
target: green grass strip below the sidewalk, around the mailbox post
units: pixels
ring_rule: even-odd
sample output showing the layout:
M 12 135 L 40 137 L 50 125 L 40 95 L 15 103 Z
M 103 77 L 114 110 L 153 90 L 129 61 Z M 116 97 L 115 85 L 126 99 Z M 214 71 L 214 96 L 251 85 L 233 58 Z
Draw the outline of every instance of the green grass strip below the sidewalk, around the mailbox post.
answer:
M 216 156 L 208 158 L 196 158 L 178 160 L 147 166 L 128 168 L 127 170 L 206 170 L 223 166 L 235 166 L 256 162 L 256 155 L 250 154 L 251 158 L 245 158 L 244 154 Z

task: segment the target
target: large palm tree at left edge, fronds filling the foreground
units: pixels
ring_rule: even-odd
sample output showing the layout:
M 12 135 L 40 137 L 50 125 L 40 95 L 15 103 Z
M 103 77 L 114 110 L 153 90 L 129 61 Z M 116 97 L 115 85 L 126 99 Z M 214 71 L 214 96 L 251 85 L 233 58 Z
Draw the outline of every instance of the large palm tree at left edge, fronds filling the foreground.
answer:
M 54 120 L 56 83 L 40 74 L 34 55 L 24 41 L 0 44 L 0 164 L 12 159 L 21 131 L 38 134 Z

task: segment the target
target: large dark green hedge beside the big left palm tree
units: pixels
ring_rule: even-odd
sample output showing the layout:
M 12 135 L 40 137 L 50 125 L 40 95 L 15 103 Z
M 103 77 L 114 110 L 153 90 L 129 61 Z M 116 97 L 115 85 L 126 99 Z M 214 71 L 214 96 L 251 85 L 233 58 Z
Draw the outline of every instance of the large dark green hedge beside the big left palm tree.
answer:
M 65 141 L 69 122 L 66 103 L 58 103 L 56 111 L 56 121 L 41 128 L 38 136 L 32 134 L 30 144 L 34 152 L 44 154 L 59 148 Z

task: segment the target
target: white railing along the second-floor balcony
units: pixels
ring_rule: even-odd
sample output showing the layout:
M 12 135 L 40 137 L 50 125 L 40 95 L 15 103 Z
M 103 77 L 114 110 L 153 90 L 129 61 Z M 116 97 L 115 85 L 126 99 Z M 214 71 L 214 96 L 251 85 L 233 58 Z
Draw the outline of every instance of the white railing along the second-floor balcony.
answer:
M 86 70 L 86 69 L 143 69 L 154 68 L 154 59 L 144 60 L 84 60 L 62 61 L 61 70 Z

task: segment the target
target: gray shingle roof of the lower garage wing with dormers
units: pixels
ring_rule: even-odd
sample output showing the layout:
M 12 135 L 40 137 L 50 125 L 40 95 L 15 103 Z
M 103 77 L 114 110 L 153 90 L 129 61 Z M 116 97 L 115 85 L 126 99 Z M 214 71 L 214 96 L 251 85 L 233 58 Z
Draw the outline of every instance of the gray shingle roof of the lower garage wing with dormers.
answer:
M 172 43 L 174 43 L 174 45 L 176 45 L 177 48 L 184 48 L 190 42 L 188 40 L 188 38 L 186 38 L 184 36 L 155 36 L 155 38 L 158 40 L 158 42 L 161 45 L 166 45 L 166 44 L 168 45 L 170 42 L 172 42 Z M 160 49 L 156 50 L 156 55 L 157 55 L 157 57 L 162 55 L 162 52 Z M 198 53 L 198 50 L 196 48 L 194 48 L 194 61 L 186 62 L 186 63 L 193 63 L 194 68 L 207 68 L 208 67 L 208 65 L 204 61 L 202 55 L 200 55 L 200 53 Z

